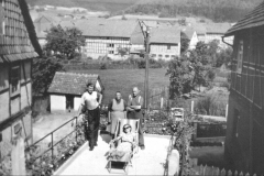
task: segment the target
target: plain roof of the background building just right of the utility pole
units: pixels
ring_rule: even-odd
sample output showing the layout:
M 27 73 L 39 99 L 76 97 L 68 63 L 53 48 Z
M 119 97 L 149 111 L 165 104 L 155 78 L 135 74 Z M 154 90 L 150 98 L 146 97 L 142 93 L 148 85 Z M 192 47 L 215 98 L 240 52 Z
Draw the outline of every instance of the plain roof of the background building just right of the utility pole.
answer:
M 151 30 L 150 43 L 169 43 L 180 42 L 180 31 L 177 28 L 158 28 Z

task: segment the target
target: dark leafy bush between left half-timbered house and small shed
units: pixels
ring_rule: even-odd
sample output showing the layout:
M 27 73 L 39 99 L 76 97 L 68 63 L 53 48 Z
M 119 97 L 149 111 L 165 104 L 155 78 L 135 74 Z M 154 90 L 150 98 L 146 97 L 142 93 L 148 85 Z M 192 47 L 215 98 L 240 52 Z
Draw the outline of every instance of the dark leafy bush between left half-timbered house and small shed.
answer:
M 56 57 L 33 59 L 33 95 L 45 94 L 52 84 L 55 73 L 58 70 L 63 70 L 63 65 Z

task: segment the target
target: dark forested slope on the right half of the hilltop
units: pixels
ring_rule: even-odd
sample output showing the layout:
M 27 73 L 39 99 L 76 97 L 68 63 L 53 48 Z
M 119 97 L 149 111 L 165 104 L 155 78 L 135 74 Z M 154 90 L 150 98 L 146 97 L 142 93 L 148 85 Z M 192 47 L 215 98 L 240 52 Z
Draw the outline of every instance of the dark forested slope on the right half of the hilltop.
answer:
M 142 0 L 125 13 L 158 14 L 161 18 L 206 16 L 215 22 L 237 22 L 263 0 Z

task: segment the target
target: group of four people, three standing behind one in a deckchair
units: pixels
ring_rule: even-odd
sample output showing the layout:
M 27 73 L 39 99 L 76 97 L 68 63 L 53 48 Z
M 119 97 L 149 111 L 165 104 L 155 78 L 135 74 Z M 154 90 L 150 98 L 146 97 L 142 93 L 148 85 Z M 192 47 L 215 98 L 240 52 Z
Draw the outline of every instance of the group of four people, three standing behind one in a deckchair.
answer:
M 95 85 L 87 84 L 87 91 L 81 96 L 79 114 L 84 114 L 85 118 L 85 135 L 88 141 L 89 150 L 92 151 L 97 146 L 98 132 L 100 125 L 100 106 L 101 106 L 102 95 L 95 90 Z M 113 98 L 108 106 L 108 120 L 110 124 L 110 133 L 113 138 L 116 127 L 119 119 L 139 119 L 139 146 L 141 150 L 145 148 L 143 130 L 142 130 L 142 120 L 143 120 L 143 98 L 140 96 L 140 90 L 138 87 L 133 88 L 132 95 L 129 96 L 128 102 L 122 98 L 120 91 L 116 92 L 116 98 Z M 114 140 L 122 140 L 133 143 L 130 134 L 131 125 L 125 124 L 123 127 L 124 135 L 120 135 Z M 132 141 L 131 141 L 132 140 Z M 121 145 L 122 146 L 122 145 Z M 122 146 L 123 147 L 123 146 Z

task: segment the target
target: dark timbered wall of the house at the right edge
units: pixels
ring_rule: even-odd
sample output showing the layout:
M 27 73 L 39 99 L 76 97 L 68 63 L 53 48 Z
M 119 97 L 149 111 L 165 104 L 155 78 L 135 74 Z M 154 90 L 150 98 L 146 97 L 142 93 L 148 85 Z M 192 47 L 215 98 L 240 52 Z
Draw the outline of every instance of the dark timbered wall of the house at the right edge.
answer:
M 227 153 L 232 155 L 237 168 L 264 173 L 264 31 L 263 28 L 235 34 L 229 117 Z M 239 41 L 243 40 L 242 72 L 238 73 L 237 56 Z M 239 110 L 239 136 L 233 136 L 234 111 Z M 243 157 L 241 157 L 243 156 Z M 252 156 L 252 161 L 250 161 Z

